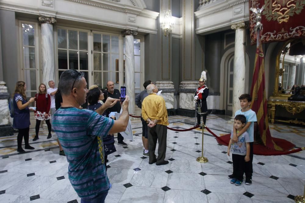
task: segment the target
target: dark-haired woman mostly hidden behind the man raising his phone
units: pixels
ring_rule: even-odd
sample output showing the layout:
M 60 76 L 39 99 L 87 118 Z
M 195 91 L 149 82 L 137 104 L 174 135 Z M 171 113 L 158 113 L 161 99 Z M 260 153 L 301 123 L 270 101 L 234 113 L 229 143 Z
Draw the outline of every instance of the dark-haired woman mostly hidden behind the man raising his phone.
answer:
M 99 87 L 97 85 L 92 85 L 89 88 L 88 94 L 87 94 L 87 100 L 88 100 L 88 109 L 91 109 L 93 111 L 97 110 L 99 107 L 102 106 L 102 100 L 106 100 L 107 99 L 107 90 L 102 91 L 101 89 L 99 89 Z M 102 116 L 105 117 L 109 117 L 109 110 L 105 110 L 104 113 L 102 114 Z M 110 117 L 112 119 L 114 119 L 114 117 Z M 108 162 L 108 155 L 116 152 L 116 148 L 114 146 L 114 137 L 113 135 L 108 135 L 106 137 L 103 138 L 103 143 L 104 143 L 104 152 L 105 152 L 105 166 L 106 162 Z M 107 167 L 106 167 L 106 171 L 107 171 Z

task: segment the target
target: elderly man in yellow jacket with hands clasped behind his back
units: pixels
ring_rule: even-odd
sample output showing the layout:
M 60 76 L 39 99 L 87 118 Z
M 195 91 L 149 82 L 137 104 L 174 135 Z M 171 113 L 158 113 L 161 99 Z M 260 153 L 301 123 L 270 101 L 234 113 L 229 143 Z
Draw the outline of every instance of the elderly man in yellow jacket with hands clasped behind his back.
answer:
M 159 91 L 157 86 L 150 84 L 146 87 L 149 94 L 142 102 L 142 118 L 148 123 L 148 149 L 149 164 L 156 165 L 168 164 L 165 161 L 166 138 L 167 138 L 167 110 L 165 101 L 162 96 L 157 95 Z M 158 158 L 156 158 L 155 150 L 158 140 Z

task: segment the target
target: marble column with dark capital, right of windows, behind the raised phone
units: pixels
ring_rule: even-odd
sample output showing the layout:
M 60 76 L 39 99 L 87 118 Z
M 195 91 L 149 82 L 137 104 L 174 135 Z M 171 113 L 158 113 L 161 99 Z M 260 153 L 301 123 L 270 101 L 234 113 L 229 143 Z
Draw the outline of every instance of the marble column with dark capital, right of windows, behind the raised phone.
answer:
M 135 53 L 134 53 L 134 36 L 137 31 L 124 30 L 125 36 L 125 84 L 126 95 L 129 96 L 129 114 L 135 114 Z

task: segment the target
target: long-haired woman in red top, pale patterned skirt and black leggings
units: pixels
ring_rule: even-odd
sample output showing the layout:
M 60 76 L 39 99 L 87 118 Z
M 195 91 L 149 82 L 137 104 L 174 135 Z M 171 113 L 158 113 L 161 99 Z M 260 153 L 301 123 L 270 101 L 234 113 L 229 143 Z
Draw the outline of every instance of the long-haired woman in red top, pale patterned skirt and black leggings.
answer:
M 50 112 L 50 107 L 51 107 L 51 97 L 47 93 L 47 90 L 45 88 L 45 84 L 41 83 L 39 85 L 39 93 L 35 95 L 35 119 L 36 119 L 36 135 L 33 139 L 33 141 L 36 141 L 39 139 L 38 133 L 39 133 L 39 126 L 41 121 L 45 121 L 45 123 L 48 126 L 48 137 L 47 139 L 50 139 L 52 137 L 51 134 L 51 124 L 50 124 L 50 119 L 51 116 L 49 114 Z

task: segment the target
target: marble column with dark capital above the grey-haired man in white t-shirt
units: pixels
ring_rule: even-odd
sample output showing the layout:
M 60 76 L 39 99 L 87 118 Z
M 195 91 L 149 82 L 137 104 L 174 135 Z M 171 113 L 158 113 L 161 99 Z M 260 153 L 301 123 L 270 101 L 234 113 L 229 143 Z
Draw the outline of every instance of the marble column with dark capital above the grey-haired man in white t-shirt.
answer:
M 53 24 L 56 23 L 56 19 L 44 16 L 40 16 L 38 19 L 41 23 L 41 81 L 45 83 L 48 88 L 48 81 L 55 80 Z

